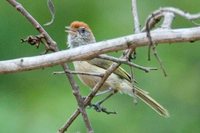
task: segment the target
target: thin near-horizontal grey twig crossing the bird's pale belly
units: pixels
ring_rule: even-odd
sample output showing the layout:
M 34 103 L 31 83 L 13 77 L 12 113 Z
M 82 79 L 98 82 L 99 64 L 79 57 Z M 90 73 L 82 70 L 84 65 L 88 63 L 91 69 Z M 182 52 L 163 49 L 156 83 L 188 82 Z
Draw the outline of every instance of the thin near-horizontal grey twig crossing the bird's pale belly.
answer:
M 65 74 L 65 73 L 103 77 L 103 74 L 101 74 L 101 73 L 89 73 L 89 72 L 79 72 L 79 71 L 71 71 L 71 70 L 53 72 L 53 74 Z

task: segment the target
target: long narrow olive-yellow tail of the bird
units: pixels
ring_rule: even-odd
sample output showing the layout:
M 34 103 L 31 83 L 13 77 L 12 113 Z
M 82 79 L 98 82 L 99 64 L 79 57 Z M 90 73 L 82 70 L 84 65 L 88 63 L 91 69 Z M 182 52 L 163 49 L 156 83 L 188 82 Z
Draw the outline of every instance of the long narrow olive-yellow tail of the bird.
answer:
M 138 87 L 134 87 L 134 93 L 137 97 L 139 97 L 142 101 L 144 101 L 149 107 L 155 110 L 159 115 L 164 117 L 169 117 L 168 111 L 160 105 L 157 101 L 155 101 L 152 97 L 148 95 L 147 92 L 143 91 Z

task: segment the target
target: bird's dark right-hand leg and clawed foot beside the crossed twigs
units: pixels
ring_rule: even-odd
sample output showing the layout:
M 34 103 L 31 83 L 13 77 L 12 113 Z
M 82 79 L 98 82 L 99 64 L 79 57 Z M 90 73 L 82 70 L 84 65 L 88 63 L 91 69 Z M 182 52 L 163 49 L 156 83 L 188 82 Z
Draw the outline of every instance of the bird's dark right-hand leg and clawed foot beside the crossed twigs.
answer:
M 102 107 L 101 104 L 105 102 L 107 99 L 109 99 L 111 96 L 117 93 L 117 90 L 112 89 L 112 93 L 110 93 L 108 96 L 106 96 L 104 99 L 101 101 L 95 103 L 95 104 L 90 104 L 90 107 L 93 107 L 97 112 L 104 112 L 106 114 L 116 114 L 117 112 L 114 111 L 107 111 L 105 107 Z

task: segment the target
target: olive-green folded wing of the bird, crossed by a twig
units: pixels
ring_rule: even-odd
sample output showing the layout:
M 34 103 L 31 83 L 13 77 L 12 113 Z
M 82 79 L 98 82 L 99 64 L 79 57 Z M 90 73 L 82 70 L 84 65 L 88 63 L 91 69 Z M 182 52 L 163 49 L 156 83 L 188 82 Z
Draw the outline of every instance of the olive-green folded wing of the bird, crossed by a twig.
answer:
M 105 60 L 105 59 L 99 59 L 99 58 L 94 58 L 92 60 L 88 60 L 87 62 L 92 64 L 92 65 L 103 68 L 105 70 L 107 70 L 113 63 L 112 61 Z M 114 71 L 114 74 L 118 75 L 122 79 L 126 79 L 129 82 L 131 82 L 131 76 L 121 67 L 118 67 Z

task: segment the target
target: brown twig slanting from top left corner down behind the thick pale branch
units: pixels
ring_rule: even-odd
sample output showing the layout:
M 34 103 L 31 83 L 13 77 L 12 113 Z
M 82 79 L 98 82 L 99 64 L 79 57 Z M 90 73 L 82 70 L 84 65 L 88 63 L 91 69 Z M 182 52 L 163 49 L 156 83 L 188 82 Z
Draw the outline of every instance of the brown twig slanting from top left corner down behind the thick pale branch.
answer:
M 49 36 L 49 34 L 42 28 L 42 26 L 31 16 L 31 14 L 16 0 L 7 0 L 13 7 L 15 7 L 22 15 L 24 15 L 27 20 L 44 36 L 45 40 L 47 41 L 47 44 L 54 49 L 54 51 L 59 51 L 56 42 Z M 67 64 L 61 65 L 64 70 L 68 70 Z M 79 110 L 82 114 L 84 123 L 86 125 L 86 128 L 88 130 L 88 133 L 93 133 L 93 129 L 91 127 L 90 121 L 88 119 L 87 113 L 84 108 L 83 99 L 79 92 L 79 87 L 76 84 L 73 75 L 70 73 L 66 73 L 66 76 L 68 77 L 70 84 L 72 86 L 73 94 L 76 97 L 76 100 L 79 105 Z

